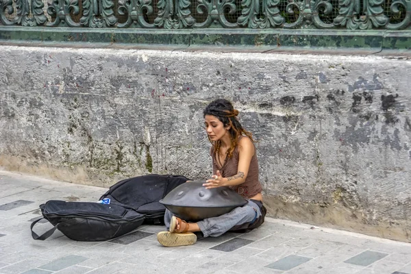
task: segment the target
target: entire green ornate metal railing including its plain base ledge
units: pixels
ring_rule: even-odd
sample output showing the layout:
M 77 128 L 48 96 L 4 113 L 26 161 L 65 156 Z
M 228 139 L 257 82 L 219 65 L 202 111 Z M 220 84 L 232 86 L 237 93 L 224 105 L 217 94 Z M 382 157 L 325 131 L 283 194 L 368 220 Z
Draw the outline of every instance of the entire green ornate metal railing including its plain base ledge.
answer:
M 411 0 L 0 0 L 16 39 L 411 49 Z

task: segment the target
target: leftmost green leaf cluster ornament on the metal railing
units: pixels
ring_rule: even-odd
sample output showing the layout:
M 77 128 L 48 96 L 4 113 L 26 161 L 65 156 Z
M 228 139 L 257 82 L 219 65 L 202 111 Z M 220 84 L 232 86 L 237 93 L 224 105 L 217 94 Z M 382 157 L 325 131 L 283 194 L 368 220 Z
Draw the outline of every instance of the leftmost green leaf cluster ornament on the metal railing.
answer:
M 12 0 L 0 0 L 0 21 L 3 25 L 22 25 L 24 27 L 33 27 L 36 25 L 43 25 L 47 22 L 47 17 L 44 14 L 43 8 L 45 5 L 41 0 L 32 0 L 31 6 L 28 0 L 16 0 L 17 15 L 8 20 L 5 16 L 5 12 L 12 14 L 14 12 Z M 29 14 L 32 13 L 33 17 L 30 18 Z

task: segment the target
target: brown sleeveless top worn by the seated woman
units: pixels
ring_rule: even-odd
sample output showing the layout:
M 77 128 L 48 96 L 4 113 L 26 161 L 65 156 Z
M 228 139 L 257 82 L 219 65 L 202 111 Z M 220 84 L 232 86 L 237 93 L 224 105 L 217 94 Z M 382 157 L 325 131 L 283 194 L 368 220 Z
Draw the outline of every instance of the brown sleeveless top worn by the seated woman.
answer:
M 240 138 L 247 138 L 244 136 L 240 136 Z M 217 171 L 220 171 L 223 177 L 231 177 L 238 173 L 238 160 L 239 160 L 239 153 L 238 153 L 238 145 L 236 149 L 233 151 L 233 155 L 231 158 L 226 158 L 223 166 L 219 166 L 216 160 L 216 154 L 214 153 L 214 145 L 210 149 L 210 154 L 212 157 L 212 171 L 213 174 L 216 174 Z M 260 181 L 258 180 L 258 160 L 256 155 L 256 146 L 254 146 L 254 155 L 251 158 L 249 172 L 245 182 L 238 185 L 238 186 L 230 186 L 234 191 L 236 191 L 242 197 L 247 199 L 256 196 L 258 193 L 262 192 L 262 186 Z

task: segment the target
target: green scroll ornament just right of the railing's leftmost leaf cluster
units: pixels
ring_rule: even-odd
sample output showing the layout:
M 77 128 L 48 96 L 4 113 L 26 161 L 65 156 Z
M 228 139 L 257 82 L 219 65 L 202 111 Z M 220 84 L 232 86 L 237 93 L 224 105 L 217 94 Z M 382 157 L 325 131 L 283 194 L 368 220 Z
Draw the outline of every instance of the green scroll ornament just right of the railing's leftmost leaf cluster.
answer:
M 55 27 L 58 25 L 68 25 L 69 27 L 79 27 L 79 23 L 75 23 L 70 16 L 70 12 L 74 15 L 79 14 L 78 0 L 52 0 L 48 3 L 47 13 L 55 16 L 55 21 L 49 22 L 48 27 Z

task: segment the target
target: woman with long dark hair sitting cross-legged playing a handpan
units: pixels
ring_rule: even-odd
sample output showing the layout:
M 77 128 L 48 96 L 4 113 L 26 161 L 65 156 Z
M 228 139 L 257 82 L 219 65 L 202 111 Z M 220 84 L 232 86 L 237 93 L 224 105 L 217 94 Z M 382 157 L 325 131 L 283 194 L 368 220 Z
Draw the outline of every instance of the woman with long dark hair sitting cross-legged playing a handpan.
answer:
M 212 143 L 210 154 L 214 174 L 203 186 L 228 186 L 248 199 L 248 203 L 227 214 L 197 223 L 187 223 L 166 210 L 164 223 L 169 231 L 157 235 L 162 245 L 192 245 L 197 241 L 193 232 L 201 232 L 204 237 L 216 237 L 229 230 L 254 229 L 264 222 L 266 210 L 262 206 L 256 147 L 251 133 L 242 127 L 237 115 L 238 110 L 234 110 L 232 103 L 225 99 L 212 101 L 203 111 L 208 139 Z

